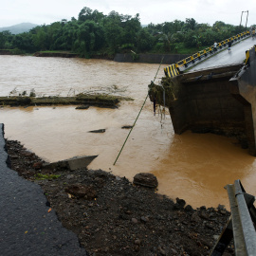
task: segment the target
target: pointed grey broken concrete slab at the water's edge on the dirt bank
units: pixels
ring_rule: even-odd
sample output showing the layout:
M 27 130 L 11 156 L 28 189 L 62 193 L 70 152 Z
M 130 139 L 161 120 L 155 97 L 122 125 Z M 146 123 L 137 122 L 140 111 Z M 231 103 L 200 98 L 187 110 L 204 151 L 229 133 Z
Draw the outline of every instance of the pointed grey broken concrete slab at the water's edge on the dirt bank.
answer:
M 97 157 L 98 155 L 83 155 L 83 156 L 74 156 L 69 159 L 65 159 L 58 162 L 47 163 L 43 166 L 43 169 L 47 170 L 71 170 L 87 168 L 87 166 Z

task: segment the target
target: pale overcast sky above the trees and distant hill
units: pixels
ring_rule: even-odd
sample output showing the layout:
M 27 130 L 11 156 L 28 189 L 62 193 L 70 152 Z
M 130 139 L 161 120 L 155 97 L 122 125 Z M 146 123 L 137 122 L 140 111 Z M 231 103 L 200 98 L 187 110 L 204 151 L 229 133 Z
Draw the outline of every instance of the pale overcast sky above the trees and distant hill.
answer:
M 98 9 L 107 15 L 116 10 L 119 14 L 139 13 L 142 25 L 185 21 L 193 18 L 197 23 L 212 25 L 215 21 L 246 26 L 256 24 L 255 0 L 2 0 L 0 27 L 19 23 L 49 25 L 62 19 L 78 18 L 83 7 Z

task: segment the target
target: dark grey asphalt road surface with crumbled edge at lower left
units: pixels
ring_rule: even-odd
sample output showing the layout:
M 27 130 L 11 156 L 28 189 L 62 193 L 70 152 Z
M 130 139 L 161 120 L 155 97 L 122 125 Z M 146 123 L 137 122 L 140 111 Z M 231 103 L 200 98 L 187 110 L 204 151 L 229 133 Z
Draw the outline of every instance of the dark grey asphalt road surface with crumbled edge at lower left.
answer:
M 10 170 L 7 160 L 4 125 L 0 123 L 0 255 L 87 255 L 56 212 L 48 212 L 40 186 Z

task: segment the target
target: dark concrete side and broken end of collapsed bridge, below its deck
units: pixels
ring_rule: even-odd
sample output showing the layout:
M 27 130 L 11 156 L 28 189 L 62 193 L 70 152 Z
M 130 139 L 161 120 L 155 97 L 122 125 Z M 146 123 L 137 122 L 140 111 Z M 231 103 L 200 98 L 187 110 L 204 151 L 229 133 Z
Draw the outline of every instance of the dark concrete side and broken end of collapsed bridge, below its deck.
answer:
M 174 64 L 159 84 L 149 85 L 151 101 L 169 108 L 175 134 L 191 130 L 236 137 L 256 155 L 255 50 L 247 50 L 241 64 L 187 73 Z

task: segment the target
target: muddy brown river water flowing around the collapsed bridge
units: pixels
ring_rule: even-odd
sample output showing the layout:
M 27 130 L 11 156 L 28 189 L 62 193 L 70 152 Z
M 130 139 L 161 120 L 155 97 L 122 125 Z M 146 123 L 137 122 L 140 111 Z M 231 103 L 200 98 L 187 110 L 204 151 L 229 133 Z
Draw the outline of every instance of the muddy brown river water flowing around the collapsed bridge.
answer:
M 104 60 L 0 56 L 0 96 L 34 90 L 37 96 L 71 96 L 79 92 L 108 93 L 132 97 L 119 109 L 75 106 L 3 107 L 0 122 L 5 137 L 17 139 L 46 161 L 76 155 L 99 155 L 90 169 L 126 176 L 155 174 L 158 192 L 183 198 L 192 207 L 229 209 L 224 187 L 241 179 L 246 191 L 256 194 L 256 158 L 241 149 L 233 138 L 211 134 L 174 134 L 172 120 L 153 113 L 146 101 L 137 124 L 129 134 L 121 129 L 133 125 L 155 79 L 158 64 L 120 64 Z M 161 66 L 155 81 L 163 76 Z M 106 129 L 104 134 L 88 133 Z M 114 166 L 114 162 L 119 159 Z

